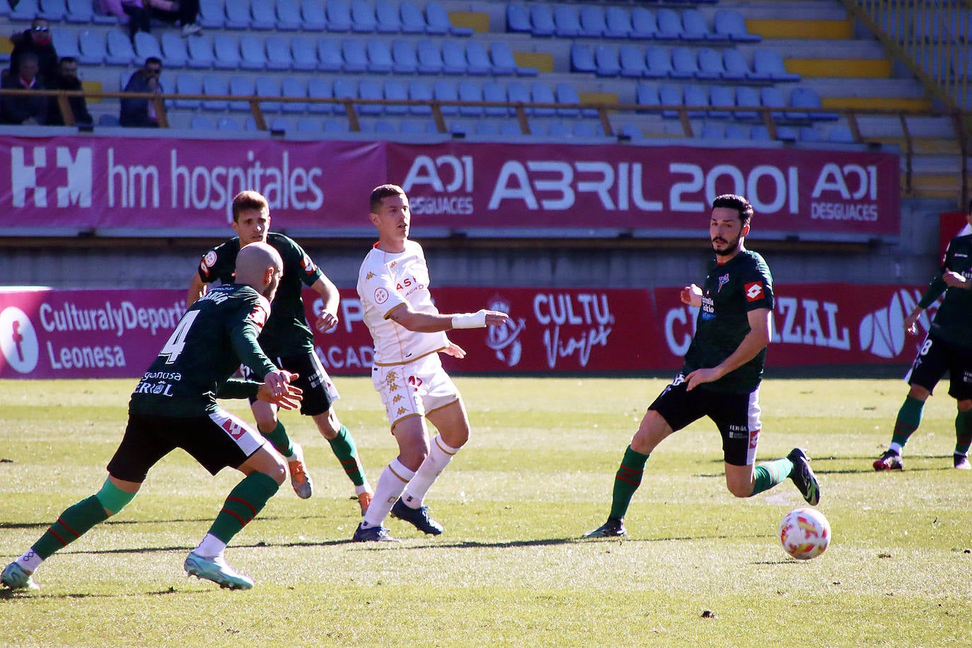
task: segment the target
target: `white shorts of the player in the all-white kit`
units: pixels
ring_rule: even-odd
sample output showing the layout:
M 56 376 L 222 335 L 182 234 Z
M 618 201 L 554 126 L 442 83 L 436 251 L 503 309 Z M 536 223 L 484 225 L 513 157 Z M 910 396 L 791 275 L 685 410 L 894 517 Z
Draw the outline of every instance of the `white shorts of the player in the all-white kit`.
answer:
M 371 383 L 381 394 L 393 427 L 405 417 L 426 416 L 459 400 L 459 390 L 442 368 L 438 354 L 407 364 L 376 364 L 371 367 Z

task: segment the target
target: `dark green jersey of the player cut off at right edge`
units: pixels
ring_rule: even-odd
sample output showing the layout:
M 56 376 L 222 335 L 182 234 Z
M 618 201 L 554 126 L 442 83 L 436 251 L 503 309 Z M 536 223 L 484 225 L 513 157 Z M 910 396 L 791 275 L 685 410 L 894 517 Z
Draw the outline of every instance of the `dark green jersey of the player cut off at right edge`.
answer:
M 930 332 L 961 347 L 972 348 L 972 290 L 949 288 L 942 279 L 947 270 L 972 280 L 972 234 L 956 236 L 949 242 L 942 258 L 941 272 L 921 295 L 919 306 L 928 308 L 945 293 L 942 305 L 931 321 Z

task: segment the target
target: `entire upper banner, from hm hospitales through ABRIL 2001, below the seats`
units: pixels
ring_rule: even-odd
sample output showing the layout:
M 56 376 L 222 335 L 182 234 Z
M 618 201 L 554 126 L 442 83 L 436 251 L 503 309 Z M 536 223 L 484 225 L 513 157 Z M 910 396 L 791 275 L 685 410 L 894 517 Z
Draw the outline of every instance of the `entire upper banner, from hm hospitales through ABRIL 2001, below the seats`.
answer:
M 360 230 L 368 192 L 395 182 L 416 227 L 598 228 L 684 236 L 712 197 L 753 203 L 755 236 L 900 234 L 898 157 L 797 149 L 450 142 L 0 137 L 0 224 L 43 229 L 223 228 L 242 188 L 283 228 Z

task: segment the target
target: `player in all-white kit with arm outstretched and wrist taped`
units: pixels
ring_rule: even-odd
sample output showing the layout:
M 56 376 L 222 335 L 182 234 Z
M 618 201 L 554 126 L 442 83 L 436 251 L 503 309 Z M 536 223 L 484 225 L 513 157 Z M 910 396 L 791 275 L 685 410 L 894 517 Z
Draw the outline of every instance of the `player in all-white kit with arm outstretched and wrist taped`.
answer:
M 370 219 L 378 242 L 364 257 L 358 275 L 364 324 L 374 341 L 371 380 L 399 442 L 399 456 L 382 471 L 356 542 L 397 542 L 382 525 L 391 513 L 426 533 L 442 526 L 429 517 L 422 500 L 435 478 L 469 440 L 469 417 L 462 396 L 442 368 L 439 353 L 464 358 L 445 331 L 505 323 L 499 311 L 442 314 L 429 291 L 429 267 L 415 241 L 408 240 L 408 197 L 396 185 L 371 192 Z M 425 419 L 438 434 L 429 440 Z

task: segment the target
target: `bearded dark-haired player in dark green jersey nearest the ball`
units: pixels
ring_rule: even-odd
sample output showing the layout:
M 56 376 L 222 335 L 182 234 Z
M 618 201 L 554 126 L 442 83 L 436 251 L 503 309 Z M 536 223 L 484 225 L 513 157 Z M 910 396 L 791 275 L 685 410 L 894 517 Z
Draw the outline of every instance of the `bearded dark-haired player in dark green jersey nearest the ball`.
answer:
M 787 477 L 813 505 L 820 490 L 800 448 L 784 459 L 755 465 L 759 383 L 773 331 L 773 278 L 762 256 L 744 245 L 752 219 L 746 198 L 723 194 L 712 201 L 709 234 L 715 264 L 700 289 L 681 291 L 699 308 L 695 336 L 681 371 L 642 418 L 614 479 L 608 522 L 584 537 L 626 535 L 624 515 L 642 484 L 644 464 L 669 434 L 708 416 L 722 435 L 726 487 L 737 497 L 763 493 Z

